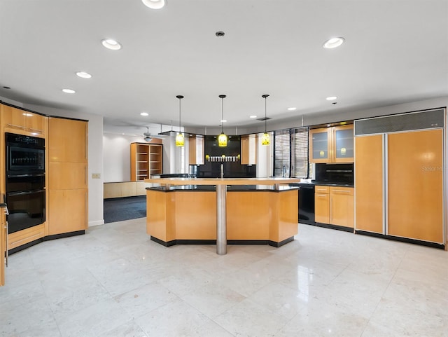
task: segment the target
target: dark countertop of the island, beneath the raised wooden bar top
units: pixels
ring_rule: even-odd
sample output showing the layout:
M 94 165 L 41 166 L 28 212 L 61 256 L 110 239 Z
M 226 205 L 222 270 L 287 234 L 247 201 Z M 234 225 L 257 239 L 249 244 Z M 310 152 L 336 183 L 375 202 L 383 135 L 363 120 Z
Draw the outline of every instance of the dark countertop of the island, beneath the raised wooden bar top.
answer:
M 147 187 L 147 190 L 153 191 L 164 191 L 164 192 L 174 192 L 174 191 L 216 191 L 215 186 L 213 185 L 182 185 L 182 186 L 170 186 L 169 190 L 165 188 L 165 186 L 156 186 L 156 187 Z M 276 189 L 275 186 L 272 185 L 228 185 L 228 192 L 244 192 L 244 191 L 272 191 L 272 192 L 281 192 L 281 191 L 290 191 L 296 190 L 298 186 L 285 186 L 280 185 L 279 189 Z

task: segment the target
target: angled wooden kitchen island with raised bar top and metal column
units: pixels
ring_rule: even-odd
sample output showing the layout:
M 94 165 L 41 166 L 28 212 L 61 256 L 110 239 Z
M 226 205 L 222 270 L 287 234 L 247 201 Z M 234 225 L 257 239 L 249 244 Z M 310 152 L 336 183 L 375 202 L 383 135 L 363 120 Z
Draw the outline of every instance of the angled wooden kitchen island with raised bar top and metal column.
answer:
M 288 178 L 145 179 L 146 231 L 165 246 L 227 243 L 280 247 L 297 234 L 297 187 Z

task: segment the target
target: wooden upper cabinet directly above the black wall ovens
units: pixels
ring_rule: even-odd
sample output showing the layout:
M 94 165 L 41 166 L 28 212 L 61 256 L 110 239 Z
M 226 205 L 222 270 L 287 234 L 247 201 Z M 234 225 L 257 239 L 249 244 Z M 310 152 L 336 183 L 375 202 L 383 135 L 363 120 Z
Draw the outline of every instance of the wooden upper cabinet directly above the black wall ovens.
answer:
M 45 135 L 45 116 L 3 104 L 3 128 L 11 132 L 30 133 L 36 137 Z M 21 131 L 21 132 L 20 132 Z

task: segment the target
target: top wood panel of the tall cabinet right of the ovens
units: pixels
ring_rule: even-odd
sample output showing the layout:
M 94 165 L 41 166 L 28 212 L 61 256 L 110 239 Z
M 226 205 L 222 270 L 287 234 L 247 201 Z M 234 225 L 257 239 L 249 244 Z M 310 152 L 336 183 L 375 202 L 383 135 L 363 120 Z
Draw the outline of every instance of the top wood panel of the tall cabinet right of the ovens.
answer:
M 87 162 L 87 122 L 48 118 L 48 144 L 52 162 Z

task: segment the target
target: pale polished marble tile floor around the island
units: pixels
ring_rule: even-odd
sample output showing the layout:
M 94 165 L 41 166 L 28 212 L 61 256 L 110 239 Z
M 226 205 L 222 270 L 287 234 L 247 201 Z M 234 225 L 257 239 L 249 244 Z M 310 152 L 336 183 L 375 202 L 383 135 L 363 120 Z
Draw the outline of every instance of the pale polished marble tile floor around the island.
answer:
M 162 247 L 146 219 L 10 256 L 2 337 L 448 337 L 448 252 L 299 224 L 274 248 Z

